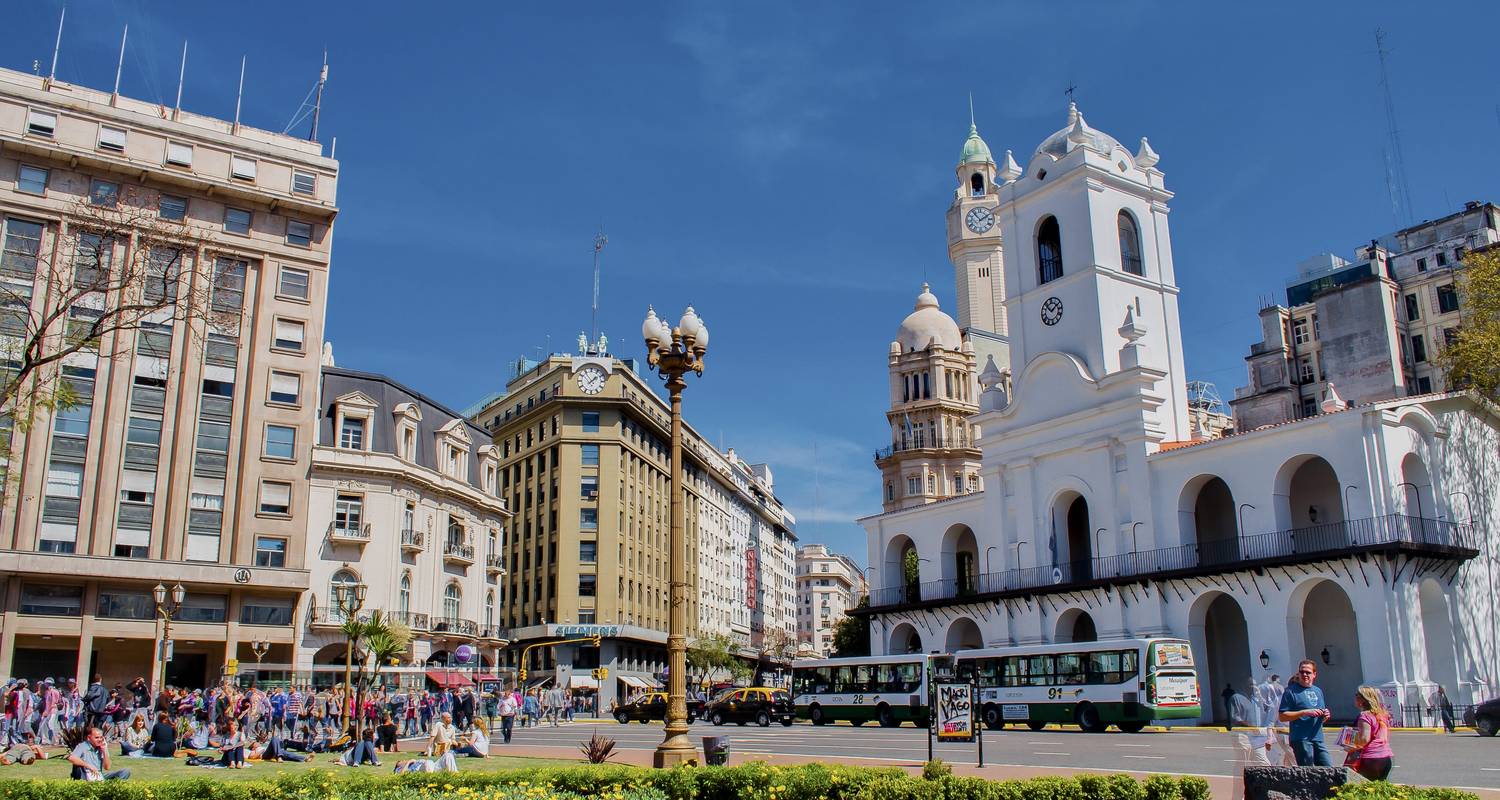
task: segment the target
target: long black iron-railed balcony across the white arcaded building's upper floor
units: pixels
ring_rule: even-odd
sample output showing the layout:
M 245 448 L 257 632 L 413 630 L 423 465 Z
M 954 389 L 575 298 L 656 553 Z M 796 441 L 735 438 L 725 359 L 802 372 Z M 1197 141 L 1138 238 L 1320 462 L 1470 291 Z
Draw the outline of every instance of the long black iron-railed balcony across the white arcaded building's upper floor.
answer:
M 1072 591 L 1131 581 L 1190 578 L 1242 569 L 1305 564 L 1359 554 L 1406 552 L 1428 558 L 1467 560 L 1479 554 L 1479 534 L 1468 522 L 1386 515 L 1329 522 L 1254 536 L 1209 539 L 1191 545 L 1102 555 L 1056 566 L 963 575 L 870 591 L 870 606 L 850 615 L 996 600 L 1020 594 Z

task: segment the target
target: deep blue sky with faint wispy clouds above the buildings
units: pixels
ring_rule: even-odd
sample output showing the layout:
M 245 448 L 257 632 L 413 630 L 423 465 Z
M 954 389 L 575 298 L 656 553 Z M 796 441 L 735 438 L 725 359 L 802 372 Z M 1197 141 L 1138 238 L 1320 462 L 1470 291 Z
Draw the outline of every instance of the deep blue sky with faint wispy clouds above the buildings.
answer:
M 60 3 L 0 63 L 45 71 Z M 802 540 L 864 561 L 885 351 L 922 279 L 952 309 L 944 212 L 968 93 L 1023 164 L 1064 123 L 1150 137 L 1173 201 L 1190 377 L 1244 383 L 1294 264 L 1395 228 L 1372 32 L 1390 48 L 1416 216 L 1497 200 L 1500 3 L 176 3 L 68 9 L 58 77 L 280 131 L 316 77 L 342 162 L 328 336 L 344 366 L 454 407 L 588 327 L 639 356 L 646 303 L 712 327 L 687 395 L 770 461 Z M 303 128 L 304 129 L 304 128 Z

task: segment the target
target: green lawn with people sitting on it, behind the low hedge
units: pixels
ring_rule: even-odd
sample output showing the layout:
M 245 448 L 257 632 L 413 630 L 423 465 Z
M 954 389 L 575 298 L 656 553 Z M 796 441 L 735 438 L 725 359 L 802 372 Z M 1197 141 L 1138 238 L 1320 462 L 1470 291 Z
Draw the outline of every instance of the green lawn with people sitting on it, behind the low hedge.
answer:
M 132 780 L 174 780 L 183 777 L 214 777 L 219 780 L 254 780 L 274 777 L 278 774 L 294 774 L 300 771 L 308 771 L 309 768 L 324 768 L 334 771 L 348 771 L 351 774 L 390 774 L 396 765 L 396 761 L 406 759 L 416 753 L 381 753 L 381 767 L 339 767 L 336 764 L 336 756 L 327 753 L 318 753 L 310 764 L 264 764 L 260 761 L 250 761 L 250 765 L 243 770 L 210 770 L 206 767 L 189 767 L 182 758 L 118 758 L 111 755 L 110 765 L 116 770 L 129 768 Z M 460 758 L 459 767 L 464 771 L 501 771 L 519 767 L 561 767 L 561 765 L 578 765 L 584 759 L 556 759 L 556 758 L 525 758 L 512 755 L 492 755 L 489 758 Z M 68 759 L 63 756 L 51 756 L 46 761 L 38 761 L 30 767 L 22 767 L 21 764 L 12 764 L 9 767 L 0 767 L 0 780 L 16 779 L 16 777 L 57 777 L 66 779 L 70 771 Z

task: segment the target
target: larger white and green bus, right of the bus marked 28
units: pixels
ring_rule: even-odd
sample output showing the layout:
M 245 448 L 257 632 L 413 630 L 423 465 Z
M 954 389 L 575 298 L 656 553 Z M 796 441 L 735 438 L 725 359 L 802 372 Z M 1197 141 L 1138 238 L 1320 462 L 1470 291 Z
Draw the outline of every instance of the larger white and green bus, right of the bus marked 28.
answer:
M 1185 639 L 1144 638 L 994 647 L 956 653 L 960 681 L 980 689 L 984 723 L 1048 722 L 1089 732 L 1137 732 L 1156 720 L 1197 719 L 1198 675 Z

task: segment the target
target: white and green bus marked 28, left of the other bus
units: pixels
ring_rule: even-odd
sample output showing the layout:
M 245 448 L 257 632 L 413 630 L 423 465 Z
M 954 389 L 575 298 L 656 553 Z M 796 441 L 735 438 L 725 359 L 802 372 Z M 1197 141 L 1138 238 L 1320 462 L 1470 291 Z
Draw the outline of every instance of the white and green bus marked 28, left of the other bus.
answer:
M 796 659 L 792 662 L 792 702 L 800 719 L 826 725 L 879 722 L 894 728 L 927 725 L 927 656 L 862 656 Z

